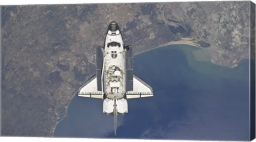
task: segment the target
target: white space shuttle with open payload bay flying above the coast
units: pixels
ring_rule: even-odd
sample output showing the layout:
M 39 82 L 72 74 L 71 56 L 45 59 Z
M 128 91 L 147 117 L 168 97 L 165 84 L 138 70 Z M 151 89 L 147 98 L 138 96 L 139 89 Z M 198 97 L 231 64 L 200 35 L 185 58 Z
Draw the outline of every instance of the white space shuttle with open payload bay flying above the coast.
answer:
M 133 74 L 132 45 L 125 46 L 115 21 L 109 24 L 105 44 L 96 47 L 96 73 L 79 88 L 79 97 L 103 99 L 103 113 L 117 116 L 128 113 L 127 99 L 153 97 L 153 89 Z

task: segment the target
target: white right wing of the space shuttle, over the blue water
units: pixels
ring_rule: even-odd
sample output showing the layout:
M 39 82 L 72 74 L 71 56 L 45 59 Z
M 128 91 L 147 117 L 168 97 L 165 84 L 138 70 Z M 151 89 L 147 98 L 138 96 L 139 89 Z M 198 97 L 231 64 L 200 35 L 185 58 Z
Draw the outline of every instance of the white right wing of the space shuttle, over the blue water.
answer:
M 126 98 L 153 97 L 153 89 L 137 76 L 133 75 L 133 91 L 127 91 Z

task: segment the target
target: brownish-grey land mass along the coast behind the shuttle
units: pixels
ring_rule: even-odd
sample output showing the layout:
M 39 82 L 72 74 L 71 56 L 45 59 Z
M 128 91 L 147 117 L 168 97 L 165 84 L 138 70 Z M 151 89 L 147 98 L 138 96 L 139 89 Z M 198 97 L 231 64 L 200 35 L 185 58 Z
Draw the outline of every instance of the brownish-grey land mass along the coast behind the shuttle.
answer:
M 1 135 L 53 136 L 71 98 L 95 72 L 94 46 L 103 45 L 111 21 L 121 27 L 124 43 L 135 45 L 134 54 L 190 44 L 209 50 L 213 63 L 233 68 L 250 58 L 251 5 L 1 6 Z

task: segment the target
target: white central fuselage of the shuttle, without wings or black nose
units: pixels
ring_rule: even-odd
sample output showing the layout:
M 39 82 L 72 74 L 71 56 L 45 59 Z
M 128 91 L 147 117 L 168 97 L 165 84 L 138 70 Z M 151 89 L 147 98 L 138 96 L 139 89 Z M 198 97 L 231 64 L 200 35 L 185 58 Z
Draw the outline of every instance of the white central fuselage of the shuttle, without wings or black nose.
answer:
M 105 52 L 103 60 L 103 86 L 106 99 L 103 102 L 103 112 L 113 113 L 114 99 L 116 99 L 117 112 L 127 113 L 125 96 L 125 51 L 121 32 L 108 30 L 105 39 Z M 113 105 L 111 105 L 113 104 Z M 113 107 L 112 107 L 113 106 Z

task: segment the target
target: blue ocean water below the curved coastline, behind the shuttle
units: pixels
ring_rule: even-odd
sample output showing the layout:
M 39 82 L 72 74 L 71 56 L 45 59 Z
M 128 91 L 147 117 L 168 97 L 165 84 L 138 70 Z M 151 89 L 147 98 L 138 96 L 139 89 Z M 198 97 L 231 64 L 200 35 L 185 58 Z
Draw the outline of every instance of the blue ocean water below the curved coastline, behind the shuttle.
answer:
M 229 68 L 207 55 L 196 60 L 201 50 L 169 45 L 134 56 L 134 73 L 154 97 L 128 100 L 117 138 L 249 140 L 249 60 Z M 75 95 L 54 137 L 114 137 L 114 118 L 101 99 Z

